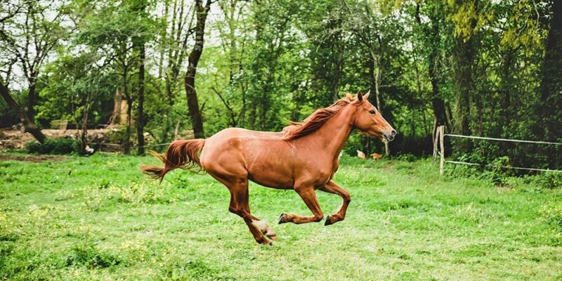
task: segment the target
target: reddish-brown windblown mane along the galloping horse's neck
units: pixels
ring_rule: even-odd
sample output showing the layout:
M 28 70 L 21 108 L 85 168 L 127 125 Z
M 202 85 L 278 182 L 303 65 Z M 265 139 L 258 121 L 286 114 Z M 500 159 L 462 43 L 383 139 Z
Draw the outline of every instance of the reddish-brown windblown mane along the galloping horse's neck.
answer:
M 334 115 L 344 109 L 346 105 L 350 104 L 353 99 L 354 98 L 350 94 L 346 94 L 345 98 L 337 100 L 333 105 L 316 110 L 313 114 L 306 117 L 303 122 L 291 121 L 289 126 L 283 128 L 283 139 L 285 141 L 290 141 L 313 133 L 330 118 L 334 117 Z

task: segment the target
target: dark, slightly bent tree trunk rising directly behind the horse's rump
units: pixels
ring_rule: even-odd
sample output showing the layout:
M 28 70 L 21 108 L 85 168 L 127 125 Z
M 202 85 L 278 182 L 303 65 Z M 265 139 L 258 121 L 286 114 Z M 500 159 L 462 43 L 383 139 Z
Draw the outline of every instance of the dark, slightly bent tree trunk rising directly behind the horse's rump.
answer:
M 195 45 L 193 46 L 188 58 L 188 70 L 185 72 L 185 95 L 188 98 L 188 111 L 191 115 L 191 124 L 195 138 L 204 138 L 203 119 L 197 101 L 197 91 L 195 90 L 195 74 L 197 74 L 197 64 L 203 53 L 205 21 L 211 8 L 211 0 L 207 0 L 203 6 L 202 0 L 195 0 L 197 8 L 197 25 L 195 25 Z

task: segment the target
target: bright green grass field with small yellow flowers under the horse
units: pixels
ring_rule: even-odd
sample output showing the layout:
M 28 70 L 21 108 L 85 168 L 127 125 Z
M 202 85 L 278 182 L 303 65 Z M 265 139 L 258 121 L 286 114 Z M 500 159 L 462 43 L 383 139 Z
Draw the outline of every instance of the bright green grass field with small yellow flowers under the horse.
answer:
M 145 178 L 150 157 L 0 162 L 0 279 L 562 280 L 562 190 L 438 176 L 429 160 L 344 157 L 345 221 L 310 214 L 293 191 L 250 187 L 277 232 L 256 244 L 208 175 Z M 317 192 L 325 215 L 341 198 Z M 557 221 L 560 220 L 560 221 Z

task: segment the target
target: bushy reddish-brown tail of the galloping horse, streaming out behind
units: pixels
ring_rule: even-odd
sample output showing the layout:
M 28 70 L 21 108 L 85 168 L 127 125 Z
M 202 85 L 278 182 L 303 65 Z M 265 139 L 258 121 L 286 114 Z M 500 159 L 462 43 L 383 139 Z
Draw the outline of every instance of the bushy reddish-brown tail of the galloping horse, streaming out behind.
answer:
M 141 166 L 141 170 L 152 178 L 159 178 L 160 182 L 162 182 L 166 173 L 173 169 L 179 168 L 197 172 L 197 166 L 201 167 L 197 153 L 203 148 L 204 144 L 203 138 L 174 141 L 170 144 L 166 153 L 152 152 L 152 155 L 164 162 L 164 167 L 145 165 Z

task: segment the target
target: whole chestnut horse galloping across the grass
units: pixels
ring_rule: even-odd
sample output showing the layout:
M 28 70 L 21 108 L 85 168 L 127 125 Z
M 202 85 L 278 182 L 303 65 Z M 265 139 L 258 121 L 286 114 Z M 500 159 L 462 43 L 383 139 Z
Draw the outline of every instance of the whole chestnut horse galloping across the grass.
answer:
M 325 225 L 343 221 L 351 198 L 332 178 L 349 134 L 358 129 L 386 141 L 392 141 L 396 135 L 368 97 L 369 93 L 347 94 L 346 98 L 316 110 L 301 123 L 292 122 L 278 133 L 230 128 L 207 139 L 174 141 L 166 153 L 156 155 L 164 162 L 163 168 L 142 166 L 141 169 L 160 181 L 173 169 L 207 171 L 230 191 L 228 211 L 244 219 L 256 242 L 272 244 L 266 237 L 277 240 L 275 232 L 265 221 L 250 214 L 248 181 L 296 191 L 313 214 L 283 213 L 279 223 L 322 221 L 324 214 L 316 199 L 317 189 L 344 199 L 339 211 L 327 216 Z

